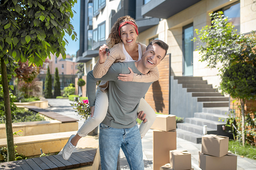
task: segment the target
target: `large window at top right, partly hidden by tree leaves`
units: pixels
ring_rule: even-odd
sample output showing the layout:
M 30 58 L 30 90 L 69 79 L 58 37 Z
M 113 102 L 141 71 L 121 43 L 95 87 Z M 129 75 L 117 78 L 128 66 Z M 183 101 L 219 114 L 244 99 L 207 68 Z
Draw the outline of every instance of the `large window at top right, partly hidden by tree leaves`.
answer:
M 240 32 L 240 1 L 230 4 L 224 8 L 221 8 L 218 11 L 223 11 L 225 17 L 231 18 L 229 22 L 231 22 L 235 26 L 234 29 L 237 29 L 237 32 L 239 33 Z M 215 12 L 218 12 L 218 11 L 215 11 Z

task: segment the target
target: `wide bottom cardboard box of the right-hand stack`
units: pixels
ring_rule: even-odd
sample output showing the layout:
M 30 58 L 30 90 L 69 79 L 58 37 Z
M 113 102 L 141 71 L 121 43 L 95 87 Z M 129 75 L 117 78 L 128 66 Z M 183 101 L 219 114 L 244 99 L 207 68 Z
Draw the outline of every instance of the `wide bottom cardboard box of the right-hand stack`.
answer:
M 236 170 L 237 156 L 228 153 L 222 157 L 210 156 L 199 151 L 199 167 L 202 170 Z

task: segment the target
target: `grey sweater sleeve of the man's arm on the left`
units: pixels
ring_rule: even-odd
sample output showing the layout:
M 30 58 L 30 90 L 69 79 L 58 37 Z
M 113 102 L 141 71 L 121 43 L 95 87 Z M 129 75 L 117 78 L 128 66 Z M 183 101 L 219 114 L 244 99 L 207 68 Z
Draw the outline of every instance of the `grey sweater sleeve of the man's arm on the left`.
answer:
M 90 107 L 95 105 L 97 81 L 117 81 L 119 73 L 122 73 L 122 66 L 120 63 L 115 63 L 108 69 L 108 72 L 102 78 L 94 78 L 93 71 L 90 71 L 87 74 L 86 89 Z

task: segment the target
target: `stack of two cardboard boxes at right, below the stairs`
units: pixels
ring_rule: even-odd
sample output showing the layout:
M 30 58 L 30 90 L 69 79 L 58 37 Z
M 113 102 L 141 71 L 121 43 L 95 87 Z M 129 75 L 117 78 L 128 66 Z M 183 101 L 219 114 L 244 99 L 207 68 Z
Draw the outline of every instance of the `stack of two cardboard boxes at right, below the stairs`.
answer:
M 228 137 L 204 135 L 199 167 L 202 170 L 236 170 L 237 156 L 228 153 Z

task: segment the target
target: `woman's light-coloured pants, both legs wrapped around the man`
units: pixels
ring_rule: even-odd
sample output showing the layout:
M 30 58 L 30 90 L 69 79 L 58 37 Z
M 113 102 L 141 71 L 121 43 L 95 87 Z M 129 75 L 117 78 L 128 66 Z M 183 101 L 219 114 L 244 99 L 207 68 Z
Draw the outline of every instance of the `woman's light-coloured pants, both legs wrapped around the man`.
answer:
M 97 88 L 96 91 L 96 100 L 95 100 L 95 108 L 93 116 L 89 117 L 81 128 L 77 131 L 77 134 L 80 137 L 85 137 L 89 132 L 95 129 L 106 117 L 108 111 L 108 92 L 102 92 L 100 87 Z M 140 136 L 145 137 L 146 133 L 152 126 L 152 124 L 156 120 L 156 113 L 149 106 L 145 99 L 140 99 L 140 105 L 138 108 L 138 113 L 140 111 L 144 111 L 146 114 L 147 122 L 140 124 Z

